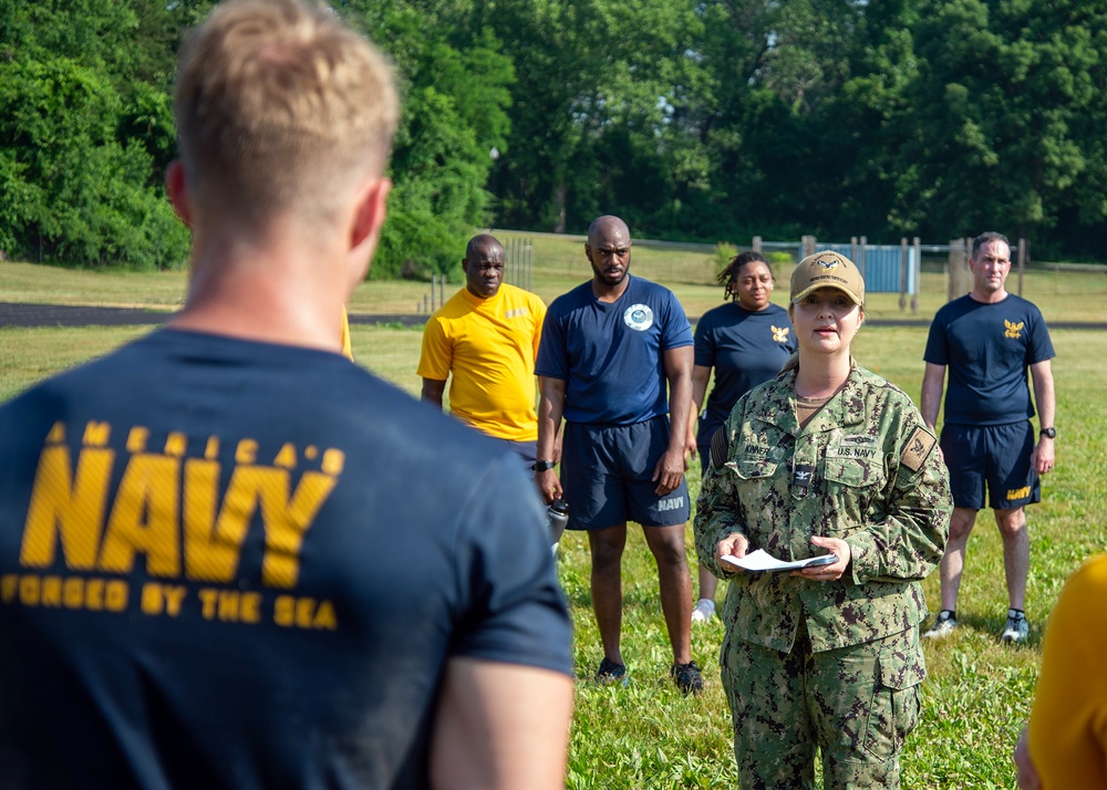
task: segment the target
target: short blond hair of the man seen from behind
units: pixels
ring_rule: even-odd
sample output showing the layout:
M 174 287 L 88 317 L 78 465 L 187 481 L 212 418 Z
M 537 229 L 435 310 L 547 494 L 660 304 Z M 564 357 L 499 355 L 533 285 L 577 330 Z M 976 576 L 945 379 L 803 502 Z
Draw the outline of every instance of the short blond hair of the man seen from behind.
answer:
M 383 174 L 400 102 L 383 55 L 332 10 L 230 0 L 182 45 L 174 115 L 198 200 L 323 218 Z

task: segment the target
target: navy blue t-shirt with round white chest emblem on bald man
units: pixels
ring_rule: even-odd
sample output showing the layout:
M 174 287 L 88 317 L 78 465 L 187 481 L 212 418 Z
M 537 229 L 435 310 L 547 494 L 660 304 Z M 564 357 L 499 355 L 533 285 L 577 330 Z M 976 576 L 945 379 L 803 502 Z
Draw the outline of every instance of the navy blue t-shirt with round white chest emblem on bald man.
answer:
M 633 425 L 669 413 L 662 352 L 692 345 L 692 325 L 668 288 L 628 278 L 614 302 L 588 281 L 546 313 L 535 370 L 566 382 L 569 422 Z

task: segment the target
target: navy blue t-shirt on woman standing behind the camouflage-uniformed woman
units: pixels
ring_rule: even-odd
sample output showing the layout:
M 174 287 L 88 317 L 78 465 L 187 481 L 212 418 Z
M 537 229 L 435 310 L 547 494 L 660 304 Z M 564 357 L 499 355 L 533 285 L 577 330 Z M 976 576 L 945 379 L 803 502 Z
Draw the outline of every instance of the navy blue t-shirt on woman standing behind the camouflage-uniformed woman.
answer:
M 735 402 L 780 372 L 796 352 L 788 311 L 778 304 L 751 312 L 737 302 L 708 310 L 695 326 L 695 364 L 715 368 L 696 444 L 706 447 Z

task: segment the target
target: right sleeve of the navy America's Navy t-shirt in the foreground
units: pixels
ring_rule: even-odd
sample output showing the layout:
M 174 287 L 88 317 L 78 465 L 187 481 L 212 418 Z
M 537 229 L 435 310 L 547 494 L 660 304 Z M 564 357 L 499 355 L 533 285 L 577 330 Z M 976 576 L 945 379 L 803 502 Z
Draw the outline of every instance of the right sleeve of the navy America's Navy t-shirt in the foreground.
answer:
M 454 655 L 572 674 L 571 625 L 542 508 L 516 456 L 474 486 L 458 563 L 464 611 Z

